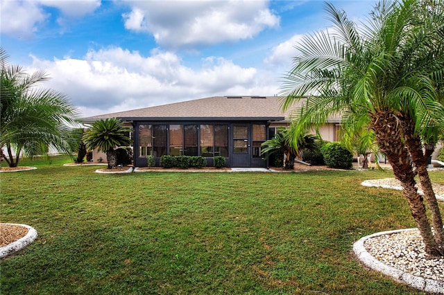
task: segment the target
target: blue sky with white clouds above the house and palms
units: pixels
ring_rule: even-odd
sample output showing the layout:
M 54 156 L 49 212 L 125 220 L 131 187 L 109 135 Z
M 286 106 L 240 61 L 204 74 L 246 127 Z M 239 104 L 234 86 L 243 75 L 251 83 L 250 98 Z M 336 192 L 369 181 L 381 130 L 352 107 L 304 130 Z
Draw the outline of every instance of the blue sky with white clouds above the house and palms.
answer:
M 376 1 L 330 1 L 365 21 Z M 80 117 L 210 96 L 273 96 L 324 1 L 0 0 L 10 64 L 44 71 Z

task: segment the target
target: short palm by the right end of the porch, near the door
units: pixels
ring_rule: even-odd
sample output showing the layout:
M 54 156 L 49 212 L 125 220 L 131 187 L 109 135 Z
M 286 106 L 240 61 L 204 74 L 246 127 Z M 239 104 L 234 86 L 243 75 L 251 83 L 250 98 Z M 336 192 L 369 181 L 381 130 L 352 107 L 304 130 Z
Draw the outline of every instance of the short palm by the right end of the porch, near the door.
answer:
M 284 169 L 292 170 L 294 169 L 294 161 L 296 157 L 300 155 L 300 150 L 304 148 L 314 148 L 314 142 L 316 140 L 316 136 L 310 134 L 302 134 L 296 140 L 298 144 L 293 145 L 293 141 L 291 138 L 292 134 L 289 129 L 284 129 L 281 132 L 275 134 L 275 136 L 268 141 L 264 141 L 262 143 L 265 146 L 263 153 L 266 153 L 266 157 L 269 157 L 271 154 L 275 152 L 282 152 L 284 154 Z

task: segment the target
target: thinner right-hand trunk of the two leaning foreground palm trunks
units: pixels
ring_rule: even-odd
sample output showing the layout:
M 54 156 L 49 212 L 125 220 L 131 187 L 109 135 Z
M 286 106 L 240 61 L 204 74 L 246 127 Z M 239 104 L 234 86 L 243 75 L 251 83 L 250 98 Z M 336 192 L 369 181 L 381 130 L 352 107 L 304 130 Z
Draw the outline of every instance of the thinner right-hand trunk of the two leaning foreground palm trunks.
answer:
M 425 153 L 422 151 L 422 143 L 419 136 L 414 135 L 414 122 L 411 118 L 400 116 L 402 132 L 404 133 L 405 143 L 409 149 L 411 160 L 416 166 L 416 172 L 420 180 L 422 192 L 424 193 L 425 201 L 432 213 L 433 233 L 435 235 L 436 243 L 441 249 L 444 249 L 444 229 L 441 212 L 439 211 L 438 201 L 433 190 L 432 181 L 427 172 L 427 159 Z

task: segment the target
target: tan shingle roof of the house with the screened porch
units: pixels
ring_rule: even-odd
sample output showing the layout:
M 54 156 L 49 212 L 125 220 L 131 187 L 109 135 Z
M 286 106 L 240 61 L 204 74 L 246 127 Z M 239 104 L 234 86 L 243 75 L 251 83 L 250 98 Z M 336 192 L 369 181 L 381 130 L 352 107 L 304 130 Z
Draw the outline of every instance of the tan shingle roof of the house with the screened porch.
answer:
M 287 116 L 282 113 L 280 105 L 281 100 L 278 96 L 214 96 L 92 116 L 83 118 L 83 121 L 89 123 L 112 117 L 122 120 L 283 120 Z

